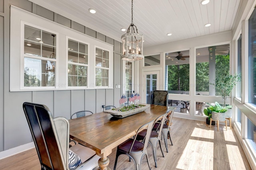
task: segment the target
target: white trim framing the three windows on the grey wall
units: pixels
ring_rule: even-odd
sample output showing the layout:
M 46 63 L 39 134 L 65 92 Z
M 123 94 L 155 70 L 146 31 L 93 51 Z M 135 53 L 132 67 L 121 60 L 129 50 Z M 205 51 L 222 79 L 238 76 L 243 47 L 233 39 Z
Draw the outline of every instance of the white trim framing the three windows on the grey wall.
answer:
M 32 23 L 31 23 L 32 22 Z M 23 24 L 22 24 L 23 23 Z M 24 78 L 24 61 L 22 61 L 24 53 L 24 26 L 21 25 L 31 25 L 33 27 L 56 33 L 56 73 L 55 73 L 55 87 L 28 87 L 23 88 Z M 36 14 L 30 13 L 28 11 L 22 10 L 15 6 L 11 6 L 11 17 L 10 17 L 10 91 L 42 91 L 42 90 L 70 90 L 78 88 L 70 88 L 67 84 L 67 43 L 66 36 L 70 39 L 77 39 L 79 42 L 84 42 L 90 44 L 88 47 L 88 78 L 87 78 L 87 88 L 86 89 L 107 89 L 113 88 L 113 51 L 114 46 L 90 37 L 89 35 L 83 34 L 74 29 L 70 29 L 56 23 L 54 21 L 48 20 Z M 23 35 L 23 38 L 22 38 Z M 109 84 L 108 86 L 96 87 L 95 86 L 95 47 L 109 51 Z M 93 49 L 94 48 L 94 49 Z M 17 50 L 20 49 L 20 50 Z M 22 49 L 22 50 L 21 50 Z M 23 51 L 23 53 L 22 53 Z M 89 59 L 91 57 L 91 59 Z M 48 58 L 46 58 L 48 60 Z M 94 65 L 94 66 L 93 66 Z M 21 68 L 23 71 L 21 71 Z M 91 76 L 90 76 L 91 75 Z M 84 87 L 82 87 L 84 89 Z M 80 88 L 79 88 L 80 89 Z

